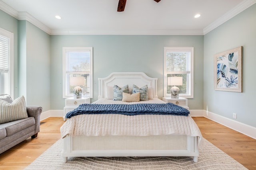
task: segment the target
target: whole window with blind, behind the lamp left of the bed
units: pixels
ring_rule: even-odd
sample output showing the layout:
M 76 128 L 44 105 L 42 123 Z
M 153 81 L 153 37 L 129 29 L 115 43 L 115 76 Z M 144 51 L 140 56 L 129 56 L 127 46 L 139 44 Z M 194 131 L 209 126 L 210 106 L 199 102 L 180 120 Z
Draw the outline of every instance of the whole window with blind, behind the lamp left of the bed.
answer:
M 63 98 L 73 97 L 80 86 L 82 97 L 92 98 L 92 47 L 63 47 Z

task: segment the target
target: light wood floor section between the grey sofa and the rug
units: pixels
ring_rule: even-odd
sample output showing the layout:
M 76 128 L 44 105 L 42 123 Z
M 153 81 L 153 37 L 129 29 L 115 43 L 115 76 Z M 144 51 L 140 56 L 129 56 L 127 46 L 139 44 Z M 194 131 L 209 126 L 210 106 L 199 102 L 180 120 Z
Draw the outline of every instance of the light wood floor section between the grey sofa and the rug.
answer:
M 28 138 L 0 154 L 0 170 L 23 170 L 45 150 L 60 139 L 62 117 L 49 117 L 40 122 L 40 132 L 35 139 Z

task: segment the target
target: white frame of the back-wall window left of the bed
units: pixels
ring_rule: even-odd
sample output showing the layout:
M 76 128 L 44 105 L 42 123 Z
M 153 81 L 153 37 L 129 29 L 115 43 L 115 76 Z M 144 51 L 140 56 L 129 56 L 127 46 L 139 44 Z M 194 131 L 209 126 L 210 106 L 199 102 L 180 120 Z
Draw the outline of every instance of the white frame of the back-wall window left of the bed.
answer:
M 62 80 L 63 80 L 63 98 L 73 97 L 73 94 L 67 94 L 67 89 L 69 89 L 69 81 L 66 79 L 66 51 L 90 51 L 90 96 L 86 96 L 89 98 L 93 98 L 93 51 L 92 47 L 62 47 Z M 79 73 L 81 74 L 81 72 Z M 83 96 L 84 97 L 84 96 Z

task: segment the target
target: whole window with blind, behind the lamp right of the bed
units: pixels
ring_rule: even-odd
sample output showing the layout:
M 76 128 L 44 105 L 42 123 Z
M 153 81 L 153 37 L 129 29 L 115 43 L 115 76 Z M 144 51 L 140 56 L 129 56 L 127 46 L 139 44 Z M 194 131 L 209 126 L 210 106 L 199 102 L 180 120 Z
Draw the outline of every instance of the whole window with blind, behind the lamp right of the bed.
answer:
M 193 98 L 194 47 L 164 47 L 164 96 L 171 96 L 168 77 L 182 77 L 180 97 Z

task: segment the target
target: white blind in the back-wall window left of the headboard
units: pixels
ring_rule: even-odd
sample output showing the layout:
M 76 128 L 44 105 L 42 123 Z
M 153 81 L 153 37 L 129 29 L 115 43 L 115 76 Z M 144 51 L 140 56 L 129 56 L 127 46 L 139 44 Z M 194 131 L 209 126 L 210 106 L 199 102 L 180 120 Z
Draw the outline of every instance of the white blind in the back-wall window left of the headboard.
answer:
M 66 51 L 66 72 L 90 72 L 90 51 Z

